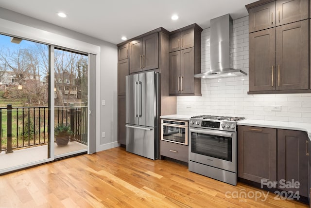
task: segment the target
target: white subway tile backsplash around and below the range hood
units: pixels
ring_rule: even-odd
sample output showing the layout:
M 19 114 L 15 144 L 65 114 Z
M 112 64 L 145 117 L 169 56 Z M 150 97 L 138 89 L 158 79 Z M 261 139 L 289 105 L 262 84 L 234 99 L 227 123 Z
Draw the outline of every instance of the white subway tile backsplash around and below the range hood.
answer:
M 210 29 L 204 29 L 201 72 L 210 68 L 209 38 Z M 248 73 L 248 16 L 234 20 L 234 67 Z M 247 91 L 248 76 L 202 79 L 202 96 L 177 97 L 177 113 L 311 123 L 311 94 L 247 95 Z M 280 105 L 281 112 L 271 111 L 272 105 Z

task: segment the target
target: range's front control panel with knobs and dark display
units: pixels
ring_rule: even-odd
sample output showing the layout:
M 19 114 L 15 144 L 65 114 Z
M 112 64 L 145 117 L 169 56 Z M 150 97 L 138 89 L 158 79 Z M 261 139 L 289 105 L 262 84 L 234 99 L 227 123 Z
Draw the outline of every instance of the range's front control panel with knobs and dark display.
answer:
M 235 121 L 217 121 L 217 120 L 205 120 L 205 119 L 190 119 L 190 127 L 198 127 L 204 129 L 216 129 L 225 130 L 230 132 L 236 132 Z

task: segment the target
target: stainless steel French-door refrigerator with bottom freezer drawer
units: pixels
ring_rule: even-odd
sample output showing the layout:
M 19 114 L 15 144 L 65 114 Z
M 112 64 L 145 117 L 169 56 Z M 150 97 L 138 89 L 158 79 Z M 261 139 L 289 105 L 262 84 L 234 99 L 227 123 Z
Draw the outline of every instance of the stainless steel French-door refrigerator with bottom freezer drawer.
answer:
M 158 79 L 155 72 L 126 76 L 126 151 L 158 159 Z

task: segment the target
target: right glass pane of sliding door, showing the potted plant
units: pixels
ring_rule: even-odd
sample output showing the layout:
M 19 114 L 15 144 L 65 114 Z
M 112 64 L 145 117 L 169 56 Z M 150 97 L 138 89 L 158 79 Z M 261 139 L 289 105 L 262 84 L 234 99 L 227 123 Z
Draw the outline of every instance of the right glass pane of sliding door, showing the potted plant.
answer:
M 55 49 L 55 157 L 87 151 L 86 55 Z

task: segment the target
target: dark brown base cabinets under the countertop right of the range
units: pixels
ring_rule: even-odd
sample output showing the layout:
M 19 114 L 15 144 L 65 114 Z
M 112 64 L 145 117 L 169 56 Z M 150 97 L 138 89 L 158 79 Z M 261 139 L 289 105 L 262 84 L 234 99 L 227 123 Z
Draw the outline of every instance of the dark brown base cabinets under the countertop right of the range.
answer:
M 308 197 L 308 145 L 306 132 L 239 125 L 238 177 Z

